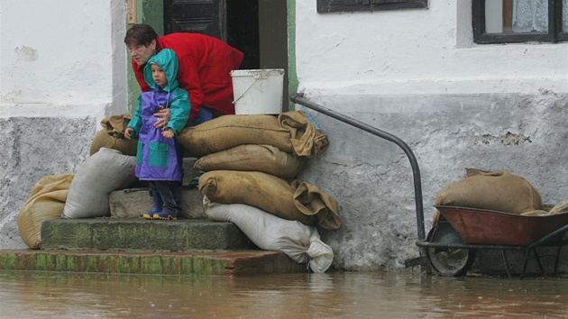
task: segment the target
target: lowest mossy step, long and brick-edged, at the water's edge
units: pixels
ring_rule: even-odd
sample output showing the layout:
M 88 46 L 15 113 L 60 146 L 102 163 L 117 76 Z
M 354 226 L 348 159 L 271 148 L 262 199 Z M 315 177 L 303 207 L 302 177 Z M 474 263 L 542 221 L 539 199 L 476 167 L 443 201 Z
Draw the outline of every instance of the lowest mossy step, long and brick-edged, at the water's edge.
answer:
M 306 264 L 279 251 L 46 251 L 0 250 L 0 270 L 143 274 L 177 276 L 251 276 L 306 272 Z

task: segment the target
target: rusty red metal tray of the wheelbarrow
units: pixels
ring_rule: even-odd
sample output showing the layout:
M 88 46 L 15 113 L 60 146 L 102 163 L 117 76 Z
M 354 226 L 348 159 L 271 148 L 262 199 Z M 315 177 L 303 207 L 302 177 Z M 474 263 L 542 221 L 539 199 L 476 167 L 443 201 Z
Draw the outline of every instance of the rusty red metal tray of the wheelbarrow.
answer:
M 526 216 L 458 206 L 435 208 L 468 244 L 528 246 L 568 223 L 568 214 Z M 561 239 L 559 235 L 549 242 Z

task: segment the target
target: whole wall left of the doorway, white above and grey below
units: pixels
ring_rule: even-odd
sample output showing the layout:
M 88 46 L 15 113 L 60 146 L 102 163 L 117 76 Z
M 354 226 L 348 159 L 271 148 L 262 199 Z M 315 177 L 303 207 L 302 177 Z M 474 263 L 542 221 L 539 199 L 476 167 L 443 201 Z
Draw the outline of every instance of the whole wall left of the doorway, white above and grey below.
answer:
M 128 112 L 124 0 L 0 3 L 0 248 L 42 177 L 75 173 L 110 114 Z

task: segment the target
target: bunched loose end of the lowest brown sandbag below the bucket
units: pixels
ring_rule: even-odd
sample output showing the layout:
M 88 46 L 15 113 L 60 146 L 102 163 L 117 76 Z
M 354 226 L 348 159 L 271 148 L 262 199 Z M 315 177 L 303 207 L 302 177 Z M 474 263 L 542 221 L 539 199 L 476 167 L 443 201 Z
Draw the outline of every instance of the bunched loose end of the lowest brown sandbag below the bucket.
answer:
M 323 192 L 313 184 L 295 180 L 292 186 L 294 191 L 294 205 L 300 212 L 307 215 L 316 215 L 317 223 L 322 228 L 334 230 L 341 226 L 341 217 L 338 214 L 337 202 L 334 197 Z

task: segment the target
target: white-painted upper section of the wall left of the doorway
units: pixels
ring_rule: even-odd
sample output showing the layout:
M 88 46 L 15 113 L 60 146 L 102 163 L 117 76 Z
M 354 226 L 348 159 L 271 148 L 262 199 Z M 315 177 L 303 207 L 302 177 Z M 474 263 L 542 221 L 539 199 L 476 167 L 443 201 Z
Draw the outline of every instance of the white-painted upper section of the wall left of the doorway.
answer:
M 2 117 L 128 110 L 124 1 L 3 0 L 0 10 Z

